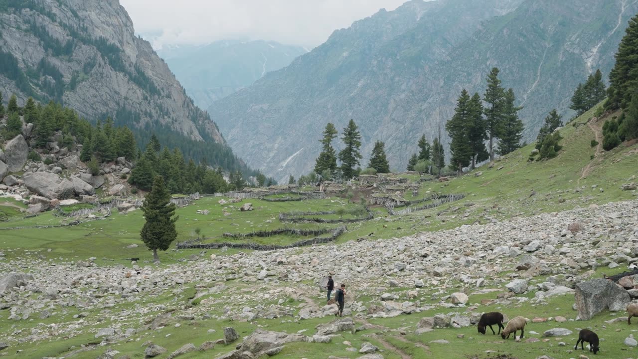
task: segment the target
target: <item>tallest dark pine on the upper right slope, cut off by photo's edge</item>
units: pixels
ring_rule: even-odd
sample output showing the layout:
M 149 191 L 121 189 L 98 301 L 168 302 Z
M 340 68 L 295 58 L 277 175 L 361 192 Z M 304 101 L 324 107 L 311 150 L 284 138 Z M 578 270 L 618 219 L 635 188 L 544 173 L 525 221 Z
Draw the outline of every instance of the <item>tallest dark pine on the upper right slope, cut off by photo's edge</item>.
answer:
M 629 20 L 616 52 L 616 64 L 609 73 L 607 109 L 626 109 L 638 89 L 638 15 Z

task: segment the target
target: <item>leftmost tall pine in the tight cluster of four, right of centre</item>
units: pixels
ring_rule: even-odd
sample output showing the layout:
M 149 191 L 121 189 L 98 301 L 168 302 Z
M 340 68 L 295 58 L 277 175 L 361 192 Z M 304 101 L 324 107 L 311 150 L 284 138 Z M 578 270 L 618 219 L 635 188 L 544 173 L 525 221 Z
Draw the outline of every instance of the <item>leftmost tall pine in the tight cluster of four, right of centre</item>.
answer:
M 463 172 L 463 167 L 470 164 L 470 159 L 473 155 L 470 146 L 469 132 L 470 112 L 470 95 L 468 95 L 466 89 L 463 89 L 461 96 L 459 96 L 456 102 L 454 116 L 445 124 L 445 130 L 447 130 L 447 133 L 452 138 L 452 143 L 450 144 L 450 152 L 452 152 L 450 164 L 456 167 L 459 173 Z

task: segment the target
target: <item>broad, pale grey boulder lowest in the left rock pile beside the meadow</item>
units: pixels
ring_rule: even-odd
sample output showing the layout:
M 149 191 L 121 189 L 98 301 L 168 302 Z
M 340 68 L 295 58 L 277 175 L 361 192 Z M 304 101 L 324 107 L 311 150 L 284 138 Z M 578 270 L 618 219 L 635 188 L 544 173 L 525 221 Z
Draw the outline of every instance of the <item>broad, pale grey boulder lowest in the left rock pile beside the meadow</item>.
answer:
M 34 172 L 25 174 L 22 178 L 24 185 L 31 191 L 48 199 L 68 199 L 77 195 L 92 195 L 95 193 L 93 186 L 82 179 L 61 178 L 51 172 Z

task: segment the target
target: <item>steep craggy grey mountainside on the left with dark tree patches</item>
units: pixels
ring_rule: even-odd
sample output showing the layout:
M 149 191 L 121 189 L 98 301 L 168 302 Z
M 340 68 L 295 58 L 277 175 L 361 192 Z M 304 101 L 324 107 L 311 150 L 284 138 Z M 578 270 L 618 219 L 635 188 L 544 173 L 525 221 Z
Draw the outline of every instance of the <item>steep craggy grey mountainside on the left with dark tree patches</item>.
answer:
M 128 125 L 140 145 L 155 132 L 187 158 L 246 169 L 117 0 L 0 1 L 0 64 L 0 91 L 20 105 L 55 100 Z

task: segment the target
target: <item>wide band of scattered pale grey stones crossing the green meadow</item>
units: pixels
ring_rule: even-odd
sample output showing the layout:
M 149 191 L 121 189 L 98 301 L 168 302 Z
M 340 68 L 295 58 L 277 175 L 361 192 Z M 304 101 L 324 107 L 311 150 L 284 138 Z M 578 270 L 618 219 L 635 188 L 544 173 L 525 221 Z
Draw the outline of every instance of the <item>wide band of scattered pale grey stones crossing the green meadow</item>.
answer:
M 328 273 L 347 286 L 344 314 L 362 320 L 480 305 L 468 295 L 491 292 L 489 301 L 503 305 L 544 303 L 602 277 L 596 268 L 634 267 L 638 201 L 390 240 L 232 255 L 193 251 L 189 261 L 171 265 L 98 266 L 94 260 L 52 261 L 31 252 L 0 261 L 0 273 L 28 273 L 0 280 L 0 321 L 14 328 L 1 331 L 0 342 L 90 332 L 107 343 L 182 319 L 334 316 L 321 288 Z M 530 291 L 533 297 L 522 296 Z M 421 327 L 477 320 L 476 313 L 435 317 Z M 24 323 L 33 327 L 20 329 Z

